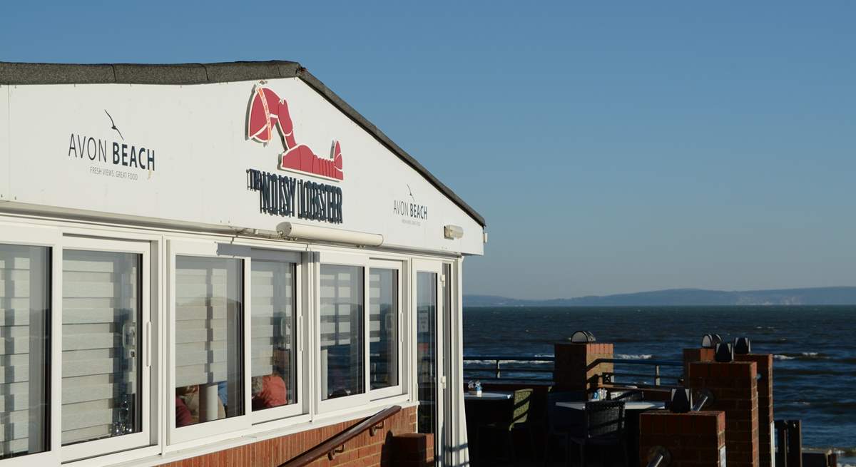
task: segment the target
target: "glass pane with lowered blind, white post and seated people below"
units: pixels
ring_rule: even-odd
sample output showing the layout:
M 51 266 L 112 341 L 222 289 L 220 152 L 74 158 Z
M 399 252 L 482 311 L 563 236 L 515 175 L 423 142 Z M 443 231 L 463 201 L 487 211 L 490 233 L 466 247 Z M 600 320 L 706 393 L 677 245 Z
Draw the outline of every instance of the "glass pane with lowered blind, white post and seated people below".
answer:
M 244 413 L 243 262 L 175 257 L 175 426 Z

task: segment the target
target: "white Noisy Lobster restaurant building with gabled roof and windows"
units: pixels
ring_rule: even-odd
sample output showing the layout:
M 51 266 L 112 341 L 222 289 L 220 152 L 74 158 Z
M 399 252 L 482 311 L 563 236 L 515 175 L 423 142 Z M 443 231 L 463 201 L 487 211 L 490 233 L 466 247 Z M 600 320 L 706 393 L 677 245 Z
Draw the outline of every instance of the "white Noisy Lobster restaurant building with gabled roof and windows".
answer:
M 390 405 L 463 464 L 484 240 L 297 63 L 0 63 L 0 467 L 164 464 Z

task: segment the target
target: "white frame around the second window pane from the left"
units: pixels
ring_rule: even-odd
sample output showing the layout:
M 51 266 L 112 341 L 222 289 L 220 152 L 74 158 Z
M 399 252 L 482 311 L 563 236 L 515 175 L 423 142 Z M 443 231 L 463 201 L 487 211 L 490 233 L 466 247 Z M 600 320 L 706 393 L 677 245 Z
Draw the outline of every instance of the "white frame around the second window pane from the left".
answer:
M 151 444 L 152 430 L 152 314 L 151 314 L 151 283 L 152 283 L 152 244 L 149 241 L 134 241 L 127 239 L 92 239 L 80 237 L 63 237 L 62 251 L 107 251 L 120 253 L 134 253 L 140 255 L 140 289 L 141 318 L 140 334 L 141 342 L 141 365 L 142 385 L 140 386 L 140 399 L 142 402 L 142 413 L 140 413 L 141 430 L 139 433 L 122 434 L 121 436 L 104 438 L 101 440 L 84 441 L 61 446 L 62 462 L 104 455 L 110 452 L 127 451 L 136 447 L 149 446 Z M 62 270 L 62 262 L 53 265 L 53 269 Z M 62 299 L 62 292 L 60 292 Z M 60 333 L 62 333 L 62 314 L 57 316 L 60 321 Z M 62 361 L 62 351 L 60 351 Z M 60 377 L 59 391 L 62 392 L 62 375 Z M 61 398 L 62 400 L 62 398 Z M 62 407 L 62 405 L 56 405 Z M 62 443 L 62 438 L 56 438 Z

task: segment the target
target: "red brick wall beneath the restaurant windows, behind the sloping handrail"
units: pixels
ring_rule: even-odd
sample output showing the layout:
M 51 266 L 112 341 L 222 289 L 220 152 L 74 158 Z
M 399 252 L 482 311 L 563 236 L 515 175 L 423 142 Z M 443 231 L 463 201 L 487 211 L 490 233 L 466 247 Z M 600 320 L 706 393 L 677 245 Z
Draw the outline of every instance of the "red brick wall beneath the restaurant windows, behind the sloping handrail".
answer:
M 208 465 L 235 465 L 240 467 L 276 467 L 291 458 L 295 458 L 322 441 L 341 433 L 360 423 L 358 418 L 343 423 L 335 423 L 324 428 L 288 434 L 279 438 L 259 441 L 246 446 L 235 447 L 224 451 L 211 452 L 204 456 L 187 458 L 163 467 L 205 467 Z M 324 456 L 313 462 L 313 467 L 343 466 L 343 467 L 392 467 L 392 438 L 396 434 L 413 433 L 416 431 L 416 407 L 408 407 L 383 423 L 383 429 L 378 429 L 374 436 L 366 430 L 345 444 L 345 451 L 336 454 L 333 460 Z

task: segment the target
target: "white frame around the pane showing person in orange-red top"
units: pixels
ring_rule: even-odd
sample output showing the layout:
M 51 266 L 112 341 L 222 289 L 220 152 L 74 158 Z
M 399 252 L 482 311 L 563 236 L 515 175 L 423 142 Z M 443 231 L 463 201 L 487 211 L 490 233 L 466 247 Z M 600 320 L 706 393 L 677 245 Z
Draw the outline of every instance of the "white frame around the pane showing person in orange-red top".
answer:
M 309 378 L 304 377 L 304 369 L 306 369 L 306 365 L 304 363 L 304 358 L 306 355 L 306 333 L 304 332 L 304 304 L 305 304 L 305 296 L 304 293 L 304 284 L 305 279 L 305 261 L 303 256 L 295 251 L 285 251 L 285 250 L 268 250 L 261 248 L 252 248 L 248 253 L 250 259 L 250 270 L 252 271 L 252 262 L 253 260 L 262 260 L 262 261 L 276 261 L 281 263 L 294 263 L 294 336 L 296 337 L 296 343 L 294 346 L 294 364 L 296 364 L 295 371 L 295 381 L 294 381 L 294 404 L 282 405 L 280 407 L 271 407 L 270 409 L 265 409 L 263 411 L 253 411 L 252 407 L 252 399 L 253 394 L 248 393 L 248 397 L 251 399 L 250 403 L 250 417 L 253 424 L 270 422 L 273 420 L 278 420 L 281 418 L 288 417 L 296 417 L 300 415 L 306 415 L 308 418 L 309 414 L 309 397 L 306 396 L 308 394 L 308 388 L 306 387 L 306 381 Z M 252 272 L 251 272 L 252 274 Z M 249 294 L 253 294 L 253 290 L 251 288 L 245 289 L 249 291 Z M 249 310 L 249 315 L 252 318 L 253 309 L 247 307 L 246 310 Z M 252 320 L 251 320 L 252 321 Z M 249 329 L 251 340 L 247 340 L 247 348 L 245 352 L 252 353 L 253 352 L 253 341 L 252 334 L 253 328 Z M 252 358 L 252 355 L 251 355 Z M 252 364 L 252 362 L 251 362 Z M 252 369 L 252 367 L 250 367 Z M 247 374 L 247 377 L 250 379 L 250 383 L 252 386 L 252 375 Z M 295 422 L 297 422 L 295 420 Z

